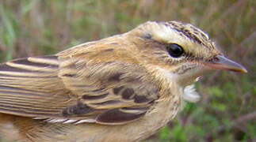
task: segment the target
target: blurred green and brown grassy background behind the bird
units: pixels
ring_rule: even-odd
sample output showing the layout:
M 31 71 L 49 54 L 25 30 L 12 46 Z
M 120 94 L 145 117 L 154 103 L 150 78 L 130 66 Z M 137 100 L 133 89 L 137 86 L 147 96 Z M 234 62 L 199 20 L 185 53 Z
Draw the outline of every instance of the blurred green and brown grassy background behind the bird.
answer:
M 0 61 L 55 54 L 144 21 L 184 21 L 208 32 L 249 73 L 201 78 L 199 103 L 144 142 L 256 141 L 255 0 L 0 0 Z

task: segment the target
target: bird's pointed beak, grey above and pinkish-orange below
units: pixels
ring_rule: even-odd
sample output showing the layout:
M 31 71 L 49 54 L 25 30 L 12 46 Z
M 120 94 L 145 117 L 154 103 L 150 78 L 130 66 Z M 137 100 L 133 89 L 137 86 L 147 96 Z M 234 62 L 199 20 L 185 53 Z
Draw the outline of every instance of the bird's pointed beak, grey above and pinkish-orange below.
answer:
M 247 73 L 247 70 L 245 67 L 243 67 L 243 65 L 233 62 L 231 59 L 225 58 L 222 55 L 217 55 L 210 62 L 204 62 L 204 65 L 210 67 L 211 69 L 224 69 L 240 73 Z

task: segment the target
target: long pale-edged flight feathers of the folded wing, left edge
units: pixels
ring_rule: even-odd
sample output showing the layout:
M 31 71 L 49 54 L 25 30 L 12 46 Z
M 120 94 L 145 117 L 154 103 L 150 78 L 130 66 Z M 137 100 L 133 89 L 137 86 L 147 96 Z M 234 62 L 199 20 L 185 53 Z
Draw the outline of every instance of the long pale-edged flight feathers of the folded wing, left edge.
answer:
M 58 77 L 55 56 L 21 58 L 0 65 L 0 112 L 27 117 L 58 117 L 67 106 L 67 89 Z M 51 105 L 53 102 L 60 102 Z M 45 104 L 49 104 L 46 106 Z

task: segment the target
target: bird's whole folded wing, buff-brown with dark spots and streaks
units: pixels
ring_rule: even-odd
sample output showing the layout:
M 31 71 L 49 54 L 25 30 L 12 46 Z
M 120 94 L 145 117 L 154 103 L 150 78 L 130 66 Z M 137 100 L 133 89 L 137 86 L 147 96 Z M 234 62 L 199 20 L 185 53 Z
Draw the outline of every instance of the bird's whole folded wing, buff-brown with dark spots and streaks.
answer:
M 124 124 L 143 116 L 158 89 L 142 69 L 57 56 L 0 65 L 0 112 L 57 122 Z

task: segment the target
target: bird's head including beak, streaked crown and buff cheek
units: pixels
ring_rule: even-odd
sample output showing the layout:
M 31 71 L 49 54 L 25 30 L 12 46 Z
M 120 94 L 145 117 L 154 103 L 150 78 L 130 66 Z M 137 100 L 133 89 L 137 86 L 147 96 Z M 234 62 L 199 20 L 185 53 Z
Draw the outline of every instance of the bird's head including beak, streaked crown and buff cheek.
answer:
M 136 56 L 148 69 L 157 69 L 182 86 L 210 69 L 246 73 L 246 69 L 224 57 L 208 35 L 192 24 L 177 21 L 153 22 L 139 25 L 128 34 L 139 47 Z

